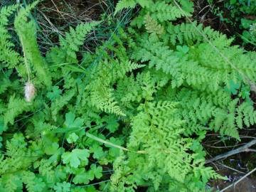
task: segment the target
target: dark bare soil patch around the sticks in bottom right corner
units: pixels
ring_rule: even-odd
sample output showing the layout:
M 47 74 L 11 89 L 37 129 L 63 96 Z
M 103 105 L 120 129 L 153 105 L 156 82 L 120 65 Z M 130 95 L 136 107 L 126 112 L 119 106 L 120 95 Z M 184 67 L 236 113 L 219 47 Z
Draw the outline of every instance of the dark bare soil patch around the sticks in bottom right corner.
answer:
M 207 159 L 233 149 L 250 142 L 256 137 L 255 127 L 245 129 L 240 132 L 241 142 L 235 139 L 223 139 L 220 142 L 220 136 L 218 134 L 210 134 L 203 142 L 203 146 L 208 154 Z M 250 148 L 253 149 L 253 146 Z M 238 181 L 242 176 L 245 176 L 248 172 L 256 167 L 256 153 L 255 151 L 242 152 L 229 156 L 226 159 L 215 161 L 210 166 L 222 176 L 227 176 L 228 180 L 218 180 L 209 183 L 210 187 L 213 187 L 213 191 L 222 190 L 223 188 L 230 186 Z M 227 191 L 256 191 L 256 172 L 250 174 L 247 178 L 240 181 L 236 186 L 228 188 Z

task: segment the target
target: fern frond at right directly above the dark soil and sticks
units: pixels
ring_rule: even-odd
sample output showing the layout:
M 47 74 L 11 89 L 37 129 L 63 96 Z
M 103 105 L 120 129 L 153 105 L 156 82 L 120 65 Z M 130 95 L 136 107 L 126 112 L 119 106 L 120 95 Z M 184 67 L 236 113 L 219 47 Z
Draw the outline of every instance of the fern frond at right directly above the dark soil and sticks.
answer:
M 186 120 L 184 128 L 190 127 L 184 132 L 186 135 L 211 129 L 239 139 L 237 127 L 242 129 L 242 124 L 247 127 L 255 124 L 252 106 L 243 102 L 236 107 L 238 100 L 232 100 L 227 92 L 218 91 L 210 94 L 183 88 L 175 91 L 169 89 L 168 94 L 170 100 L 181 102 L 181 111 L 177 114 L 179 118 Z M 250 123 L 245 122 L 247 117 L 250 117 Z

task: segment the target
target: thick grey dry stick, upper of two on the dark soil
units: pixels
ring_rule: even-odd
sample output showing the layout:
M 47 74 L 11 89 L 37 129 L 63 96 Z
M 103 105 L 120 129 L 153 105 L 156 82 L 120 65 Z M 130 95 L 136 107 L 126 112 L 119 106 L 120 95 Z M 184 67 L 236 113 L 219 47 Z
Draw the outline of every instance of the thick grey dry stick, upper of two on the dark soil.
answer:
M 218 156 L 215 156 L 213 157 L 212 159 L 208 159 L 206 160 L 206 164 L 210 164 L 212 163 L 213 161 L 218 161 L 220 159 L 224 159 L 224 158 L 227 158 L 228 156 L 232 156 L 234 154 L 239 154 L 241 152 L 248 152 L 248 151 L 254 151 L 253 149 L 249 149 L 250 146 L 256 144 L 256 139 L 253 139 L 252 141 L 250 141 L 249 143 L 243 145 L 243 146 L 240 146 L 238 147 L 238 149 L 234 149 L 232 151 L 228 151 L 227 153 L 225 154 L 220 154 Z

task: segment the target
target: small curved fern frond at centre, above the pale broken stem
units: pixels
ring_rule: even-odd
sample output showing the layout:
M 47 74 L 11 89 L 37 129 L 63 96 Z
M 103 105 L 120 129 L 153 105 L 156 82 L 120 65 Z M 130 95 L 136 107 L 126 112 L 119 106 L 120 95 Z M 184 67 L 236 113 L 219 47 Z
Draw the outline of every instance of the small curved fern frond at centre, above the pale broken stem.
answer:
M 114 43 L 119 45 L 119 50 L 114 47 Z M 107 55 L 107 50 L 103 49 L 105 46 L 113 51 L 114 58 Z M 118 106 L 117 100 L 114 98 L 114 82 L 125 78 L 127 73 L 144 67 L 144 65 L 126 60 L 125 51 L 122 41 L 116 35 L 114 35 L 113 42 L 108 42 L 99 48 L 97 54 L 105 55 L 106 58 L 100 60 L 94 68 L 90 69 L 88 75 L 93 79 L 85 87 L 87 92 L 90 92 L 90 105 L 97 107 L 98 110 L 121 116 L 125 116 L 125 112 Z

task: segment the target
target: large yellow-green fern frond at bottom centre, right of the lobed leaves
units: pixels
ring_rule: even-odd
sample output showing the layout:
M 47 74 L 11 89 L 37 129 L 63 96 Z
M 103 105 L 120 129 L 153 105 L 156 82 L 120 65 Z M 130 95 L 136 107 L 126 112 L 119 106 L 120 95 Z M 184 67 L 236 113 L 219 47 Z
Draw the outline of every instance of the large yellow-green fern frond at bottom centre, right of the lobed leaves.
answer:
M 189 182 L 183 183 L 188 181 L 190 174 L 197 172 L 198 159 L 193 159 L 195 154 L 187 152 L 192 143 L 190 139 L 181 137 L 183 121 L 173 116 L 176 105 L 174 102 L 160 101 L 147 102 L 139 107 L 140 112 L 132 121 L 132 132 L 127 144 L 131 152 L 123 156 L 122 161 L 117 159 L 114 163 L 117 171 L 112 176 L 112 191 L 134 191 L 133 188 L 144 183 L 144 179 L 150 182 L 149 186 L 154 186 L 154 191 L 159 191 L 166 177 L 169 181 L 182 183 L 171 186 L 169 191 L 200 190 L 189 186 Z M 144 151 L 144 154 L 136 151 Z M 195 164 L 191 164 L 191 161 L 195 161 Z M 203 169 L 201 166 L 201 170 Z M 202 171 L 193 177 L 202 176 L 203 182 L 208 181 L 208 178 L 219 177 L 213 171 L 206 172 L 204 174 Z

